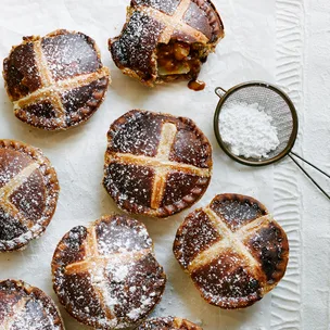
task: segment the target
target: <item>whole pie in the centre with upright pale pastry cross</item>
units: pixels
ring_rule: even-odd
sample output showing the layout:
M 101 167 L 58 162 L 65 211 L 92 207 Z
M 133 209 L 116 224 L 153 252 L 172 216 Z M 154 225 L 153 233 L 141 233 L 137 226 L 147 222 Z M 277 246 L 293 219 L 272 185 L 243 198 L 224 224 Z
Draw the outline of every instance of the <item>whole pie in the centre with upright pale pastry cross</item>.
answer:
M 212 174 L 212 148 L 188 118 L 132 110 L 107 132 L 103 185 L 132 214 L 167 217 L 193 205 Z

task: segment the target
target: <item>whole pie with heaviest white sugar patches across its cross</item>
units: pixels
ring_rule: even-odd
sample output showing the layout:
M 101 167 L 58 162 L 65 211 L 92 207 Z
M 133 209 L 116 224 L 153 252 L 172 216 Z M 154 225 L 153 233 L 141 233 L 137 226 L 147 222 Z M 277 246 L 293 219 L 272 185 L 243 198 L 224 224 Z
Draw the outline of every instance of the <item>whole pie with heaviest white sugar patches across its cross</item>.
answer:
M 145 226 L 127 216 L 73 228 L 52 262 L 61 304 L 81 323 L 124 329 L 142 321 L 160 302 L 166 277 Z

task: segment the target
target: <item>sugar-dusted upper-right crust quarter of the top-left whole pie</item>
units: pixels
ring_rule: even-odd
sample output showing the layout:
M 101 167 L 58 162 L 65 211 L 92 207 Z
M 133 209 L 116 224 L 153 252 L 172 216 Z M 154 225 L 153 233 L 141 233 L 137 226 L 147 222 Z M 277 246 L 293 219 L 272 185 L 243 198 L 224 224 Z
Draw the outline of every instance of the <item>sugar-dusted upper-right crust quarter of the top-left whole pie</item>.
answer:
M 93 41 L 84 34 L 61 34 L 41 41 L 54 80 L 63 80 L 102 67 Z

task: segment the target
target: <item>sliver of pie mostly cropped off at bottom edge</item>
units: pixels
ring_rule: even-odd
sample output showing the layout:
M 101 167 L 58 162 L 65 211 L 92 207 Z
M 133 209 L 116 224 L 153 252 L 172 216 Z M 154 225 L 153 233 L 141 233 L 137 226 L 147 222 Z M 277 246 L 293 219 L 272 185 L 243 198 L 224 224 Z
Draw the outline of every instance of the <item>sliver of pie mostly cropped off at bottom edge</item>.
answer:
M 137 330 L 203 330 L 203 329 L 179 317 L 157 317 L 147 320 Z

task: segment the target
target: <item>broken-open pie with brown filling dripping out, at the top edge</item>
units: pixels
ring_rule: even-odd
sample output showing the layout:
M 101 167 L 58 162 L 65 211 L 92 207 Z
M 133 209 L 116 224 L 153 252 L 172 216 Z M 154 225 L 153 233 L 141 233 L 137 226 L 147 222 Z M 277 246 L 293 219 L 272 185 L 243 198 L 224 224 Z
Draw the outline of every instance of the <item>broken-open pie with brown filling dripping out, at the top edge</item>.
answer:
M 127 23 L 109 47 L 122 72 L 147 86 L 188 79 L 201 90 L 201 66 L 223 37 L 210 0 L 131 0 Z

